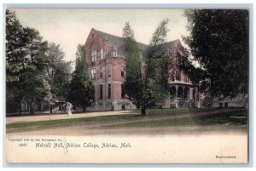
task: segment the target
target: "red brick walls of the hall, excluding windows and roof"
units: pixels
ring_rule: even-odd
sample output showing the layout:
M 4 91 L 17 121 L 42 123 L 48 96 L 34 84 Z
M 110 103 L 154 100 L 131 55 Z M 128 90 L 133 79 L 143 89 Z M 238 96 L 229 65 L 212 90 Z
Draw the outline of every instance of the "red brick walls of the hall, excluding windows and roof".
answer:
M 92 37 L 92 35 L 94 35 Z M 108 54 L 108 52 L 112 51 L 114 47 L 109 45 L 98 33 L 96 30 L 92 29 L 90 31 L 90 34 L 86 40 L 85 43 L 85 50 L 86 50 L 86 56 L 87 56 L 87 61 L 89 68 L 96 68 L 96 79 L 93 79 L 93 83 L 95 84 L 95 90 L 96 90 L 96 101 L 106 101 L 108 99 L 108 83 L 111 84 L 111 100 L 122 100 L 121 98 L 121 84 L 124 82 L 124 77 L 121 77 L 121 70 L 122 66 L 125 66 L 126 64 L 126 59 L 124 57 L 103 57 L 102 60 L 100 53 L 96 53 L 96 62 L 91 62 L 91 50 L 96 50 L 96 52 L 100 52 L 100 49 L 103 48 L 103 54 Z M 172 48 L 173 54 L 180 53 L 183 56 L 185 55 L 183 53 L 183 46 L 179 41 L 177 41 Z M 170 55 L 174 56 L 174 59 L 172 61 L 174 62 L 174 65 L 172 68 L 170 68 L 169 71 L 169 77 L 168 80 L 169 82 L 172 81 L 172 73 L 174 71 L 178 70 L 177 67 L 177 56 L 176 55 Z M 107 66 L 111 65 L 112 66 L 112 77 L 108 77 L 108 68 Z M 102 67 L 102 78 L 100 78 L 100 67 Z M 187 75 L 181 71 L 181 82 L 185 81 L 185 77 Z M 186 82 L 187 83 L 187 82 Z M 189 83 L 191 83 L 189 81 Z M 99 100 L 100 98 L 100 85 L 102 85 L 102 100 Z

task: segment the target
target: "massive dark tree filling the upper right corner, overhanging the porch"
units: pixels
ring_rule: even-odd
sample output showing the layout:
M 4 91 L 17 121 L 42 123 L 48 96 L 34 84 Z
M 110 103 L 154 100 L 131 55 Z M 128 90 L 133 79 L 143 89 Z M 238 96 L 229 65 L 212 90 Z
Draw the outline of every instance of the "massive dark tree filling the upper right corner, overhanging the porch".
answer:
M 189 77 L 213 96 L 247 94 L 248 11 L 189 9 L 184 14 L 191 32 L 184 41 L 200 65 L 183 65 Z

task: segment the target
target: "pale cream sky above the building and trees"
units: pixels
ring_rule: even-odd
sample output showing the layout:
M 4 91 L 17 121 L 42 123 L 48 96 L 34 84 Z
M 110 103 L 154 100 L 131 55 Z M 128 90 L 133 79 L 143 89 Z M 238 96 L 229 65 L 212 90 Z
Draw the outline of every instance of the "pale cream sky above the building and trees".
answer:
M 37 29 L 48 42 L 61 44 L 66 60 L 75 60 L 79 43 L 91 28 L 122 37 L 129 21 L 137 42 L 148 44 L 160 20 L 169 19 L 167 41 L 187 36 L 183 9 L 12 9 L 23 26 Z M 184 43 L 183 43 L 184 45 Z

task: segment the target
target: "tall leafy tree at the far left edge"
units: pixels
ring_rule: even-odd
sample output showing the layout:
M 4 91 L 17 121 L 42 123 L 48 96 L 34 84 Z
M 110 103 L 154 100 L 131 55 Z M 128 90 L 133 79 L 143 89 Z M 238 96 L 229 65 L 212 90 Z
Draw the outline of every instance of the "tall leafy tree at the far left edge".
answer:
M 6 96 L 7 110 L 19 105 L 21 114 L 21 100 L 25 96 L 24 84 L 20 82 L 25 71 L 26 43 L 24 28 L 16 14 L 6 10 Z

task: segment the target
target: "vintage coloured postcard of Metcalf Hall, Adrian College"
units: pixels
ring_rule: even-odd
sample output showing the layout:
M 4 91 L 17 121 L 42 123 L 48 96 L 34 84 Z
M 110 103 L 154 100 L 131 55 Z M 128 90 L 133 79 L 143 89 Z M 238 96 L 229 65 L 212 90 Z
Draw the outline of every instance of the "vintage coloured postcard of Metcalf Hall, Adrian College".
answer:
M 7 163 L 247 163 L 248 9 L 5 11 Z

